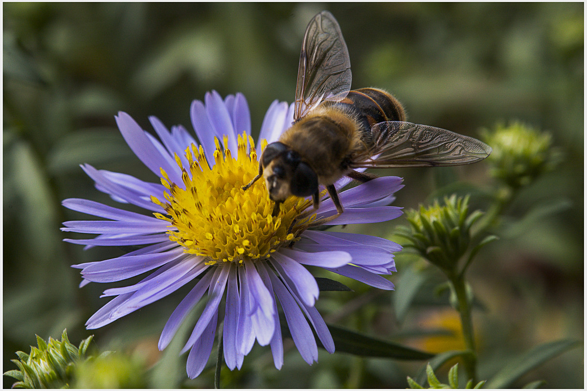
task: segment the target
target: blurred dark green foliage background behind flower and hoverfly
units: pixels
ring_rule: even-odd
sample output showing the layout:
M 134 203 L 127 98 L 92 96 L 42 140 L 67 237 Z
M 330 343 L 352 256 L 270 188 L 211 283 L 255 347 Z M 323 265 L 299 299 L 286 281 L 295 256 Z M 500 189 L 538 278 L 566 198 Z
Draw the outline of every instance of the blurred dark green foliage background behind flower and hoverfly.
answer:
M 191 128 L 193 99 L 212 89 L 222 96 L 240 91 L 258 132 L 272 100 L 292 101 L 303 32 L 322 9 L 340 23 L 354 88 L 386 89 L 402 101 L 410 121 L 473 137 L 481 128 L 519 120 L 551 132 L 564 154 L 555 171 L 518 194 L 505 211 L 509 229 L 471 268 L 470 283 L 485 306 L 475 312 L 480 379 L 542 342 L 582 339 L 582 3 L 4 3 L 4 371 L 15 369 L 9 359 L 17 350 L 28 352 L 35 334 L 58 337 L 67 328 L 74 344 L 95 334 L 100 349 L 138 354 L 147 366 L 158 361 L 155 386 L 211 387 L 211 373 L 183 382 L 186 355 L 177 356 L 176 346 L 183 341 L 157 351 L 159 333 L 185 290 L 85 330 L 86 319 L 107 302 L 100 293 L 113 285 L 79 289 L 70 265 L 122 250 L 83 251 L 62 242 L 61 222 L 87 217 L 60 201 L 115 205 L 83 174 L 84 162 L 157 181 L 124 143 L 117 111 L 147 130 L 149 115 Z M 429 202 L 431 194 L 463 192 L 455 183 L 491 186 L 483 162 L 387 174 L 404 178 L 394 205 L 407 208 Z M 471 203 L 486 206 L 483 196 Z M 533 213 L 537 205 L 544 208 Z M 391 237 L 393 227 L 405 223 L 400 217 L 349 229 Z M 397 259 L 399 272 L 391 277 L 397 290 L 407 262 L 407 255 Z M 422 349 L 458 344 L 409 338 L 417 329 L 450 328 L 446 299 L 431 304 L 432 288 L 398 319 L 394 292 L 349 285 L 354 292 L 321 295 L 317 306 L 327 321 Z M 290 349 L 280 372 L 268 352 L 256 346 L 241 371 L 223 372 L 224 386 L 402 388 L 406 375 L 423 365 L 321 351 L 319 363 L 308 366 Z M 519 385 L 536 379 L 581 388 L 582 348 L 542 365 Z M 4 379 L 4 387 L 11 384 Z

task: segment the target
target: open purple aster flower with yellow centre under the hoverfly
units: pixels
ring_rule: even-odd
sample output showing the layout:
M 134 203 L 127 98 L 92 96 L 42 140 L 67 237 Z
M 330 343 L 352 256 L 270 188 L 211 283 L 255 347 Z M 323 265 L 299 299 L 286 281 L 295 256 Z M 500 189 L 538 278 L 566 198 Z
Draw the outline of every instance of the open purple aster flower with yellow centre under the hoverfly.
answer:
M 192 103 L 190 114 L 199 144 L 185 128 L 168 130 L 155 117 L 150 122 L 158 138 L 141 129 L 130 115 L 116 117 L 124 140 L 160 178 L 159 183 L 82 165 L 97 189 L 117 202 L 146 209 L 146 215 L 92 200 L 63 201 L 66 208 L 104 219 L 63 223 L 64 231 L 97 234 L 93 239 L 66 241 L 86 247 L 143 246 L 121 257 L 73 266 L 81 269 L 80 286 L 147 274 L 139 283 L 105 290 L 104 296 L 114 298 L 87 321 L 87 328 L 102 327 L 191 284 L 192 290 L 171 314 L 158 344 L 159 349 L 166 348 L 207 293 L 205 308 L 183 348 L 190 351 L 190 378 L 198 376 L 207 363 L 220 321 L 228 368 L 241 368 L 255 340 L 271 346 L 275 366 L 281 368 L 279 307 L 306 362 L 318 359 L 312 328 L 332 353 L 332 336 L 314 307 L 318 284 L 305 266 L 390 290 L 393 284 L 380 274 L 396 270 L 393 252 L 401 247 L 363 234 L 306 230 L 315 220 L 336 213 L 330 199 L 312 210 L 311 200 L 291 197 L 282 203 L 278 216 L 272 216 L 273 203 L 262 181 L 242 191 L 258 171 L 258 154 L 249 135 L 249 109 L 242 94 L 222 100 L 212 91 L 204 103 Z M 293 105 L 274 101 L 261 127 L 261 148 L 276 141 L 292 120 Z M 337 187 L 342 189 L 348 182 L 342 179 Z M 397 177 L 383 177 L 340 192 L 345 212 L 328 224 L 394 219 L 402 212 L 387 205 L 402 188 L 401 182 Z M 308 217 L 298 217 L 302 212 L 309 212 Z

